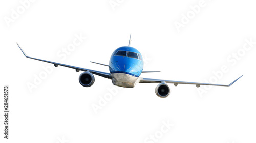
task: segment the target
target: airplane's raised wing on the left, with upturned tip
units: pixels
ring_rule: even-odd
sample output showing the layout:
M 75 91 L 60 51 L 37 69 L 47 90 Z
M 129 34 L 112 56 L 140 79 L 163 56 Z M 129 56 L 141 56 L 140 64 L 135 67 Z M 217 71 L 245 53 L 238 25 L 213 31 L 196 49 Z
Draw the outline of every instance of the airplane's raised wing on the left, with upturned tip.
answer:
M 17 43 L 18 45 L 18 43 Z M 18 45 L 19 49 L 22 50 L 22 48 Z M 79 68 L 79 67 L 75 67 L 75 66 L 70 66 L 70 65 L 65 65 L 65 64 L 61 64 L 61 63 L 56 63 L 56 62 L 51 62 L 51 61 L 46 61 L 46 60 L 41 60 L 41 59 L 37 59 L 37 58 L 32 58 L 30 56 L 27 56 L 26 53 L 22 50 L 23 54 L 26 56 L 26 58 L 30 58 L 30 59 L 34 59 L 34 60 L 38 60 L 38 61 L 42 61 L 42 62 L 47 62 L 47 63 L 51 63 L 54 64 L 55 67 L 58 67 L 58 65 L 63 66 L 63 67 L 68 67 L 68 68 L 72 68 L 75 69 L 77 72 L 79 71 L 90 71 L 92 74 L 95 75 L 99 75 L 105 78 L 109 78 L 112 79 L 112 76 L 110 73 L 106 73 L 106 72 L 101 72 L 101 71 L 95 71 L 95 70 L 90 70 L 90 69 L 84 69 L 84 68 Z

